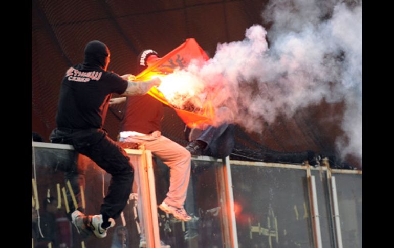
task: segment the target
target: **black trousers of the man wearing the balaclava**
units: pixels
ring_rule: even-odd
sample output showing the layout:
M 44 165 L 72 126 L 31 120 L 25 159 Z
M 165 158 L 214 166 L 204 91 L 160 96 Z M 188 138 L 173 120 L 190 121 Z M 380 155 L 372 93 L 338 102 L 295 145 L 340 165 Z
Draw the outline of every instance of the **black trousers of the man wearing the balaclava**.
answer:
M 101 205 L 101 214 L 108 218 L 118 218 L 127 204 L 132 190 L 134 171 L 126 152 L 118 146 L 102 129 L 75 130 L 55 128 L 50 136 L 52 143 L 70 144 L 74 149 L 112 175 L 108 193 Z M 81 209 L 79 186 L 85 182 L 85 168 L 78 168 L 74 163 L 65 169 L 65 180 L 69 180 Z M 67 187 L 66 187 L 67 188 Z M 100 189 L 97 188 L 97 191 Z M 68 192 L 69 202 L 71 197 Z M 70 204 L 70 213 L 75 208 Z

